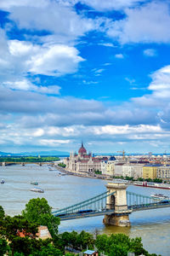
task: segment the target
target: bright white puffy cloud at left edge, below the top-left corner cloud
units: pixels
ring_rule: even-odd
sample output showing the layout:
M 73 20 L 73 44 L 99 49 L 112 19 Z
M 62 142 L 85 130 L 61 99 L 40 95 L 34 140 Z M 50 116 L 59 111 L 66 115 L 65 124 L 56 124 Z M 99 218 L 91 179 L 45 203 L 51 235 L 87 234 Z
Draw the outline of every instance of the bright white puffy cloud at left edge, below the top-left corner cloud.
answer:
M 59 94 L 58 85 L 37 86 L 26 78 L 27 74 L 61 76 L 76 73 L 79 62 L 84 61 L 73 46 L 7 40 L 3 30 L 0 34 L 0 82 L 10 89 Z

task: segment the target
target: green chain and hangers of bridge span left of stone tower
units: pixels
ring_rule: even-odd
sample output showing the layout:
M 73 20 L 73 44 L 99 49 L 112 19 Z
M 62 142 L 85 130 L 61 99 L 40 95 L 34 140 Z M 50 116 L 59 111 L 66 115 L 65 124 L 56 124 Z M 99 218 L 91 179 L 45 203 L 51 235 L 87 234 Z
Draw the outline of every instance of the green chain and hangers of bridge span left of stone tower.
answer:
M 108 191 L 106 191 L 100 195 L 94 196 L 93 198 L 77 203 L 71 207 L 65 207 L 63 209 L 55 211 L 53 212 L 53 214 L 54 216 L 60 216 L 60 215 L 74 213 L 74 212 L 80 212 L 86 209 L 92 210 L 92 211 L 102 210 L 106 206 L 106 203 L 105 203 L 106 197 L 113 194 L 115 194 L 115 192 L 109 193 Z

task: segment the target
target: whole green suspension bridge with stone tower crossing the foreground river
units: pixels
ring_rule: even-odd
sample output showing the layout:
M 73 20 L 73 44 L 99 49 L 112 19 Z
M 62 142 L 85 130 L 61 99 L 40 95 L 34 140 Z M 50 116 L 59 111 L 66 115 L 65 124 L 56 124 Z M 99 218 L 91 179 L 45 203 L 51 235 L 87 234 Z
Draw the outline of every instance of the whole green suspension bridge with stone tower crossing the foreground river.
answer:
M 104 223 L 129 226 L 128 215 L 136 211 L 170 207 L 170 200 L 153 199 L 127 191 L 126 183 L 108 183 L 107 191 L 71 207 L 53 212 L 61 221 L 105 215 Z

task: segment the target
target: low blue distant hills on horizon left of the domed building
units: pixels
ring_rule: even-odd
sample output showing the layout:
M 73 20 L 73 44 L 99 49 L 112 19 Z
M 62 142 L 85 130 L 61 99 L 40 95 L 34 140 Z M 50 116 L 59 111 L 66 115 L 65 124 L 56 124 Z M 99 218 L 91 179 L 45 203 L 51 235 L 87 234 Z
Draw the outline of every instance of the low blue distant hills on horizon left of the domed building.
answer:
M 37 156 L 37 155 L 54 155 L 54 156 L 69 156 L 69 152 L 65 152 L 65 151 L 57 151 L 57 150 L 51 150 L 51 151 L 38 151 L 38 152 L 21 152 L 21 153 L 7 153 L 7 152 L 2 152 L 0 151 L 0 156 L 20 156 L 20 155 L 24 155 L 24 156 Z

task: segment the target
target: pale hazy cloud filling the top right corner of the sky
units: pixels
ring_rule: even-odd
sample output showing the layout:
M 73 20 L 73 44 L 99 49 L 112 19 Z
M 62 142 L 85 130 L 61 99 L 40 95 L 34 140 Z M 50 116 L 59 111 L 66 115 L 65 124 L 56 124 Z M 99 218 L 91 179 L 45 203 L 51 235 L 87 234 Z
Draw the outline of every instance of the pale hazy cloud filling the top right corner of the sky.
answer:
M 170 14 L 167 3 L 151 2 L 126 9 L 127 17 L 108 24 L 107 34 L 122 44 L 169 43 Z

